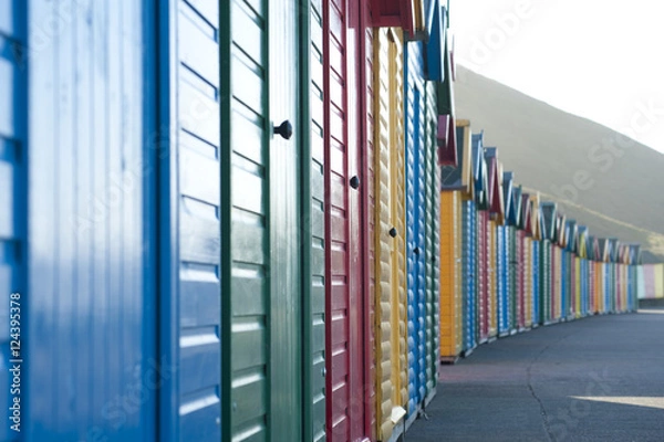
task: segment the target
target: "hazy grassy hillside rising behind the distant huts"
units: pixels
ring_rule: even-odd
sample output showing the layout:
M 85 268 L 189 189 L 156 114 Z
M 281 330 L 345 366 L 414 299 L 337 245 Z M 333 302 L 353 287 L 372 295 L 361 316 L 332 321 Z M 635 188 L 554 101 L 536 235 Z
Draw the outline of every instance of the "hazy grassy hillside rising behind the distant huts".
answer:
M 664 155 L 457 67 L 457 116 L 485 130 L 518 183 L 562 203 L 591 234 L 639 242 L 644 262 L 664 261 Z

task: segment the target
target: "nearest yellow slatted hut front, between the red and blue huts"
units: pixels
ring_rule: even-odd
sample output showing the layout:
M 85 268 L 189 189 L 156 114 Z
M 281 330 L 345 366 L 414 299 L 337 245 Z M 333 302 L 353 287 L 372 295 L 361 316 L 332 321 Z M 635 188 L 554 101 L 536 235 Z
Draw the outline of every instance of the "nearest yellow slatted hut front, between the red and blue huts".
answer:
M 407 402 L 402 35 L 374 33 L 376 434 L 388 440 Z M 390 235 L 396 229 L 396 238 Z

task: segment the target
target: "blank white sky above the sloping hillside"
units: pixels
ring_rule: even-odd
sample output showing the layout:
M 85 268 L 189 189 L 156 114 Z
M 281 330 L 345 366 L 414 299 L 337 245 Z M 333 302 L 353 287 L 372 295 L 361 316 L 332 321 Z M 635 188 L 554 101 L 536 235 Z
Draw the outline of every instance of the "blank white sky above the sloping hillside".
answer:
M 457 63 L 664 152 L 664 1 L 450 0 Z

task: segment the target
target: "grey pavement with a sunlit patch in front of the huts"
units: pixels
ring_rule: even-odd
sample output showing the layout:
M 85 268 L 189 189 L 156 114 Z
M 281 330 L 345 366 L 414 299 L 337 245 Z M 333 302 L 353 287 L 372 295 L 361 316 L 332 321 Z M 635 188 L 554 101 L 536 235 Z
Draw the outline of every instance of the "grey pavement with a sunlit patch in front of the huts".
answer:
M 442 366 L 406 441 L 664 442 L 664 309 L 595 316 Z

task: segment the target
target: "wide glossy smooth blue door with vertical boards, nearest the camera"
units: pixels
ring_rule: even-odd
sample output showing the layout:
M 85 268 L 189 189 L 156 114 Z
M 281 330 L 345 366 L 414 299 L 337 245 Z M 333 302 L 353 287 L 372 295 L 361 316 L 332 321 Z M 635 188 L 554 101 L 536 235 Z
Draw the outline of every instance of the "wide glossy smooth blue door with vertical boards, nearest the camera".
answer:
M 143 55 L 154 14 L 144 13 L 143 2 L 1 3 L 0 180 L 11 182 L 0 189 L 15 186 L 25 201 L 27 167 L 32 213 L 25 248 L 21 206 L 12 203 L 9 225 L 9 208 L 0 208 L 0 272 L 13 269 L 15 288 L 30 290 L 22 399 L 30 414 L 22 433 L 35 441 L 155 440 L 156 391 L 143 383 L 146 373 L 156 376 L 157 364 L 151 230 L 157 147 L 144 149 L 155 135 L 156 102 L 144 84 L 154 59 Z M 20 59 L 25 64 L 17 64 L 8 40 L 19 49 L 25 35 L 44 35 L 51 24 L 58 32 L 42 44 L 31 41 Z M 27 286 L 18 285 L 19 263 L 30 269 Z M 137 391 L 146 391 L 142 401 L 124 409 Z

